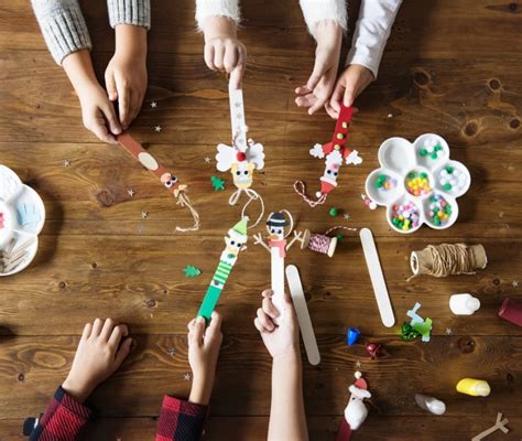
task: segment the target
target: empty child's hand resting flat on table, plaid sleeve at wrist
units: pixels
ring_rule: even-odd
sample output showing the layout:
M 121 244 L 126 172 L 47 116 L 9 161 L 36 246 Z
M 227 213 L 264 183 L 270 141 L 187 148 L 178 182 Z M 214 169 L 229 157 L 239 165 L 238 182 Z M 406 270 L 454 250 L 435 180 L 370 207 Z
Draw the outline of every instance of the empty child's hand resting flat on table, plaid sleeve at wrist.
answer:
M 77 401 L 84 402 L 96 386 L 115 373 L 129 355 L 132 338 L 129 330 L 111 319 L 87 323 L 81 334 L 73 367 L 62 385 Z M 123 343 L 120 342 L 123 340 Z

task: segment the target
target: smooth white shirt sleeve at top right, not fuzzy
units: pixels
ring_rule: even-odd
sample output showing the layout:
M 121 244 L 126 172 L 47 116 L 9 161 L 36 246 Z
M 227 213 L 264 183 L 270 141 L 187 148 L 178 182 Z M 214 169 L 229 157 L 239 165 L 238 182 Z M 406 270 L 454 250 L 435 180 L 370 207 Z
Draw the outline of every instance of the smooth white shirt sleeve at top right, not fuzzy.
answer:
M 346 65 L 368 67 L 377 78 L 382 53 L 402 0 L 362 0 Z

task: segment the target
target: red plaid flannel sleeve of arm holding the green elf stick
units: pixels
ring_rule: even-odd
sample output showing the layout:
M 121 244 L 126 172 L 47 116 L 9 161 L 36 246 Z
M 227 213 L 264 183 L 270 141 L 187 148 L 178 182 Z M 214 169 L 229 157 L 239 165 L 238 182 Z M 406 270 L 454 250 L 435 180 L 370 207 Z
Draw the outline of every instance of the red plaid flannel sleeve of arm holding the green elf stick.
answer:
M 165 395 L 157 422 L 156 441 L 197 441 L 202 438 L 208 406 Z

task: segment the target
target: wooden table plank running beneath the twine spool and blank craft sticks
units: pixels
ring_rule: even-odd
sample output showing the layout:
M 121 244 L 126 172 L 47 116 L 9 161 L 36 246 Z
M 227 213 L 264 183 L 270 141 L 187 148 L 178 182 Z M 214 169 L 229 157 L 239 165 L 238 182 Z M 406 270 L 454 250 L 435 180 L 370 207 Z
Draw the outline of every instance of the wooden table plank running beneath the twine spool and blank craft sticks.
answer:
M 313 323 L 322 334 L 342 338 L 348 326 L 360 326 L 369 335 L 396 335 L 406 311 L 420 301 L 423 316 L 434 320 L 436 335 L 444 335 L 446 327 L 458 335 L 522 335 L 521 327 L 497 316 L 504 298 L 522 295 L 512 286 L 522 275 L 521 240 L 481 241 L 489 256 L 486 270 L 407 282 L 410 250 L 422 249 L 426 243 L 411 236 L 378 239 L 395 310 L 394 330 L 383 327 L 379 319 L 357 238 L 340 245 L 334 260 L 292 249 L 289 263 L 301 270 Z M 44 236 L 34 263 L 17 277 L 2 279 L 0 322 L 4 333 L 56 335 L 76 334 L 95 316 L 115 316 L 140 333 L 183 333 L 199 308 L 221 244 L 219 237 Z M 203 275 L 186 279 L 182 271 L 186 265 L 196 265 Z M 260 247 L 251 246 L 238 260 L 219 304 L 232 333 L 255 333 L 252 319 L 260 292 L 270 283 L 269 275 L 270 259 Z M 453 315 L 448 299 L 456 292 L 477 295 L 481 309 L 471 316 Z M 39 320 L 42 316 L 45 321 Z

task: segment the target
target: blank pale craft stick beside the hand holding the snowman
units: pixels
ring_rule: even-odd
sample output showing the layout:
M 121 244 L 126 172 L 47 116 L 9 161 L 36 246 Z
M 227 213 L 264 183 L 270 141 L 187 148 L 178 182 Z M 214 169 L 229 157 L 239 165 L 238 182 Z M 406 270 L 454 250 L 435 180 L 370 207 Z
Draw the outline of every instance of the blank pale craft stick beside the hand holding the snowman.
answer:
M 306 351 L 308 363 L 316 366 L 320 363 L 319 348 L 317 347 L 317 340 L 315 338 L 314 326 L 309 318 L 308 306 L 301 283 L 300 271 L 294 265 L 286 267 L 286 280 L 289 281 L 290 294 L 294 302 L 297 322 L 300 323 L 301 335 Z

